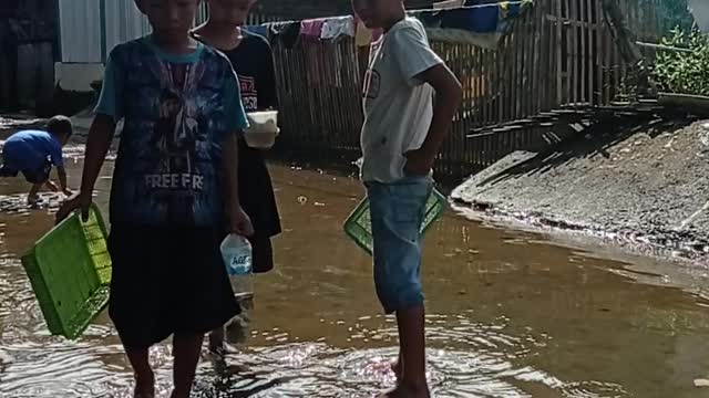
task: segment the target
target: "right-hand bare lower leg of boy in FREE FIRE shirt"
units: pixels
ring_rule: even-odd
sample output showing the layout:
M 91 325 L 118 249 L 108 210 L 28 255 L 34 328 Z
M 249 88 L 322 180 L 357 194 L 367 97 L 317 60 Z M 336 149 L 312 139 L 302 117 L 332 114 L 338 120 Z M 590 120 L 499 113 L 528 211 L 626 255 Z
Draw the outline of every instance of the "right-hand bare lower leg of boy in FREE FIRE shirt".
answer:
M 173 355 L 175 356 L 173 383 L 175 389 L 172 398 L 189 398 L 203 341 L 204 334 L 176 334 L 173 337 Z

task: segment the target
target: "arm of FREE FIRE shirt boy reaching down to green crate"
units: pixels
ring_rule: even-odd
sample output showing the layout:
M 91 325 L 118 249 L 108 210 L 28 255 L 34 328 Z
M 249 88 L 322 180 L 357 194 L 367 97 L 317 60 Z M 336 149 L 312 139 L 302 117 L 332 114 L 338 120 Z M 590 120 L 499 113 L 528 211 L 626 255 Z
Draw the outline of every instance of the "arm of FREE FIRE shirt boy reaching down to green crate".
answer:
M 81 209 L 84 220 L 89 218 L 93 187 L 99 178 L 101 166 L 106 157 L 109 147 L 115 134 L 115 122 L 112 116 L 96 114 L 89 130 L 84 170 L 81 177 L 81 189 L 66 200 L 56 212 L 56 221 L 65 219 L 72 211 Z

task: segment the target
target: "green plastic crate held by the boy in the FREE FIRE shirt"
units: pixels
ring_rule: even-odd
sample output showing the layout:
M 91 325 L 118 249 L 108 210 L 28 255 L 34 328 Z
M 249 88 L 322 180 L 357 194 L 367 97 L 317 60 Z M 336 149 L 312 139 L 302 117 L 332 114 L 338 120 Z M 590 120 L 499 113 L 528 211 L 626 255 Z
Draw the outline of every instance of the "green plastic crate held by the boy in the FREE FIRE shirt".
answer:
M 101 211 L 89 221 L 74 213 L 42 237 L 22 258 L 49 331 L 81 336 L 109 303 L 111 256 Z

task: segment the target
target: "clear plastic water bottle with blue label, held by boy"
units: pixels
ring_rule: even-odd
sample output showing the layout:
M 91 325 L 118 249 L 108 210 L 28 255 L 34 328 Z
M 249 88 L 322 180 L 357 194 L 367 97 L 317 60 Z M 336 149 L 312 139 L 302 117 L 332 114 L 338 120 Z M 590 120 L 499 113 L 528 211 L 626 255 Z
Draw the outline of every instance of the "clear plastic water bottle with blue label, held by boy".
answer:
M 254 308 L 254 281 L 251 244 L 238 234 L 229 234 L 222 242 L 222 259 L 229 274 L 229 282 L 242 314 L 226 325 L 226 338 L 229 343 L 243 343 L 249 323 L 249 313 Z

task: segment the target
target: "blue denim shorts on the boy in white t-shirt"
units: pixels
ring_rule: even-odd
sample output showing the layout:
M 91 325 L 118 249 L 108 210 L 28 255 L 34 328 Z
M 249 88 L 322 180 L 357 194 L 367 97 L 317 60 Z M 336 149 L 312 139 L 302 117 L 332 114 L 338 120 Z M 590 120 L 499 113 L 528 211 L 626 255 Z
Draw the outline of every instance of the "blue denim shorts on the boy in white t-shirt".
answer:
M 421 224 L 433 182 L 425 177 L 407 177 L 366 186 L 379 301 L 387 314 L 421 305 Z

